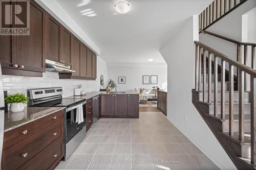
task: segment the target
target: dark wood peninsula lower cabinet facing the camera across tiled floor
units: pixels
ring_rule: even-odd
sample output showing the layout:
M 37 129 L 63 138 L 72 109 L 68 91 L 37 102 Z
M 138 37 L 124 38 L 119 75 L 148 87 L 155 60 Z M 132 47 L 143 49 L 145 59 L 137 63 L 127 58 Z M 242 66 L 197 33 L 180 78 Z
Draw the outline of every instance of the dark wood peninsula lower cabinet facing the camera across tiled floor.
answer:
M 138 94 L 101 94 L 100 117 L 139 118 Z

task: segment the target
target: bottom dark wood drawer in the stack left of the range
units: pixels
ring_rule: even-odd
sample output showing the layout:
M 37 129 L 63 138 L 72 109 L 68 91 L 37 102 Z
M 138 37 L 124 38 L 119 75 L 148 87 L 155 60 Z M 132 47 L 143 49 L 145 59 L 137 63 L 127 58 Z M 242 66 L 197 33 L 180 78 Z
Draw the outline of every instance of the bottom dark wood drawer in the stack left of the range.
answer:
M 64 143 L 63 140 L 59 141 L 53 147 L 46 151 L 41 157 L 34 161 L 26 169 L 53 169 L 54 163 L 63 157 Z

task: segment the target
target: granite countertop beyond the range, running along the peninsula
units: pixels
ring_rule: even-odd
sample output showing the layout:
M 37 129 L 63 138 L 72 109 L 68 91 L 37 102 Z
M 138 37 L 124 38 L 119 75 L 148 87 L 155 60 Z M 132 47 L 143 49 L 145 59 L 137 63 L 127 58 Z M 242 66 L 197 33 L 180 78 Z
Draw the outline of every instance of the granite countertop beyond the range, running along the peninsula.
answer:
M 136 92 L 136 91 L 124 91 L 123 92 L 120 92 L 118 93 L 106 93 L 105 91 L 90 91 L 90 92 L 87 92 L 86 95 L 71 95 L 71 96 L 68 96 L 66 97 L 66 99 L 84 99 L 84 100 L 87 100 L 87 99 L 90 99 L 90 98 L 94 98 L 95 96 L 97 95 L 100 95 L 100 94 L 139 94 L 139 92 Z

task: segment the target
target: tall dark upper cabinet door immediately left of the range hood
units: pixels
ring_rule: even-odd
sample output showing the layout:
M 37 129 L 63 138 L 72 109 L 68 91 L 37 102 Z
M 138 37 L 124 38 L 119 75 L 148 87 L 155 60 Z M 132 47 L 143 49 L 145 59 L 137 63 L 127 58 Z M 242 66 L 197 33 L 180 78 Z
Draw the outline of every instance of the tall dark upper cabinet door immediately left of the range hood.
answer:
M 30 35 L 17 36 L 18 69 L 45 72 L 45 13 L 30 2 Z

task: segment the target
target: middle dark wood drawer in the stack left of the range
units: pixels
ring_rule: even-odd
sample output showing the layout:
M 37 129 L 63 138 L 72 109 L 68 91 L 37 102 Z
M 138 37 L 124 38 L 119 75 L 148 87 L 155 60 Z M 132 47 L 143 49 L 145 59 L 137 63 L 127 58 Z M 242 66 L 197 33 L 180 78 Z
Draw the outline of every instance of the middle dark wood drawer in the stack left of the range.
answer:
M 57 138 L 63 138 L 63 119 L 3 151 L 2 168 L 17 169 Z

